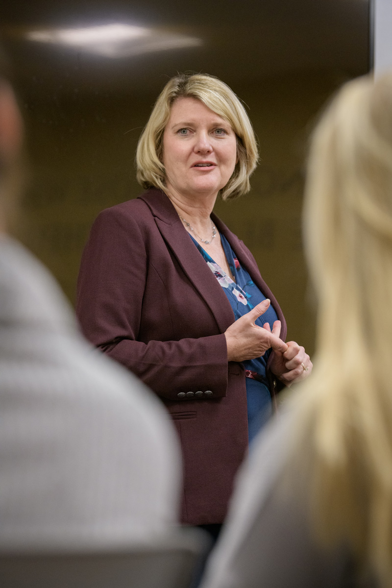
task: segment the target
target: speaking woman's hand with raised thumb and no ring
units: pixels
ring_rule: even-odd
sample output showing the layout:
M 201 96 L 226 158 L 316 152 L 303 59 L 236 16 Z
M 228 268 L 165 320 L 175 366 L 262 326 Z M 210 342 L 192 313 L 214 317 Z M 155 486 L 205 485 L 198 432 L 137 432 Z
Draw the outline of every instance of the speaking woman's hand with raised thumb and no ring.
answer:
M 256 359 L 272 348 L 284 353 L 287 345 L 279 339 L 281 323 L 276 320 L 272 331 L 254 324 L 254 321 L 266 312 L 270 300 L 260 302 L 246 315 L 241 316 L 225 331 L 227 344 L 227 360 L 242 362 L 246 359 Z

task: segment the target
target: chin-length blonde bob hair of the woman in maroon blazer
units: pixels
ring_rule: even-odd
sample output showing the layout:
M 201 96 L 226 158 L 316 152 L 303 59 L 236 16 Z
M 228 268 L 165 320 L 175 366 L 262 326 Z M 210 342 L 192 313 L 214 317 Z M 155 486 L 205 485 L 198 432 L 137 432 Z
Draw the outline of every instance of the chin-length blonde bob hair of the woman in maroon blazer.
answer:
M 136 151 L 138 182 L 143 188 L 165 191 L 165 166 L 162 163 L 163 131 L 173 103 L 179 98 L 196 98 L 221 116 L 237 137 L 238 161 L 232 177 L 220 191 L 223 200 L 249 192 L 249 178 L 258 161 L 256 137 L 249 117 L 232 89 L 207 74 L 179 74 L 167 82 L 158 96 Z

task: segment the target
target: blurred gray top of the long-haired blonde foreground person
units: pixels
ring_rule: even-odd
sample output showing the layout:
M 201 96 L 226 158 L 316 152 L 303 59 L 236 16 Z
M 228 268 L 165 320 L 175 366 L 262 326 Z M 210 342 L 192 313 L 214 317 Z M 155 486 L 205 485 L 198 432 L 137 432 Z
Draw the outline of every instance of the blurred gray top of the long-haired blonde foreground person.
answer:
M 292 492 L 287 477 L 281 483 L 295 423 L 292 411 L 283 412 L 251 447 L 202 588 L 376 586 L 356 578 L 343 545 L 331 552 L 319 547 L 311 531 L 306 493 Z M 292 470 L 290 474 L 295 477 Z M 296 480 L 292 482 L 298 488 Z

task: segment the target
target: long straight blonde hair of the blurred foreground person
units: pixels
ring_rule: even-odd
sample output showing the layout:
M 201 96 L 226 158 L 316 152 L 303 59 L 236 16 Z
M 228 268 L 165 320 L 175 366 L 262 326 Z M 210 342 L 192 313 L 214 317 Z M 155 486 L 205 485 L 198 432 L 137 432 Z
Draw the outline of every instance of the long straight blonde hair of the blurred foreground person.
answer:
M 349 82 L 317 126 L 304 235 L 318 360 L 298 424 L 315 529 L 391 586 L 392 73 Z

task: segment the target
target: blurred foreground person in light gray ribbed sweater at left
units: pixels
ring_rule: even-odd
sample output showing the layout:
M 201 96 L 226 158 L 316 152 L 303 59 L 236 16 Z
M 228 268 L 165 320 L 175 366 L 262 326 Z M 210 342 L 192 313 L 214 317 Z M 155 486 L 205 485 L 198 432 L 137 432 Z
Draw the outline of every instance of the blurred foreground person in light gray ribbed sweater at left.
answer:
M 7 234 L 22 126 L 0 62 L 0 552 L 128 546 L 177 522 L 175 433 Z

